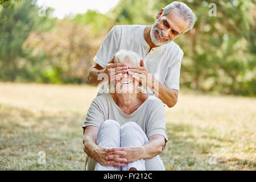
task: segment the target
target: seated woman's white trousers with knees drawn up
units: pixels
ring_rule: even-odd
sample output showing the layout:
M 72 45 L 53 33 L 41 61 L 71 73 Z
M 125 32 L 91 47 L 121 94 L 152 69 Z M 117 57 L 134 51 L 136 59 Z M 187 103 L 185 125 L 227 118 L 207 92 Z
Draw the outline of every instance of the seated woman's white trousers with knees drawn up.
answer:
M 135 122 L 127 122 L 122 127 L 117 121 L 108 119 L 98 129 L 97 144 L 101 148 L 143 146 L 148 138 L 141 127 Z M 127 163 L 125 167 L 103 166 L 96 163 L 95 171 L 128 171 L 131 167 L 138 171 L 164 171 L 164 163 L 159 155 L 152 159 L 140 159 Z

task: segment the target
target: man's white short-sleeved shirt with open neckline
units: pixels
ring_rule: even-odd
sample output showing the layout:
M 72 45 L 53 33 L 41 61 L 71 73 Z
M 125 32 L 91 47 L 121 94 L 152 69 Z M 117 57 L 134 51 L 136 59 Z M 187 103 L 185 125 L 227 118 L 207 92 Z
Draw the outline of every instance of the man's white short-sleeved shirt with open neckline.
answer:
M 114 26 L 93 60 L 105 68 L 119 50 L 134 51 L 143 58 L 148 71 L 161 84 L 165 84 L 167 88 L 179 90 L 183 51 L 172 41 L 163 46 L 154 47 L 149 52 L 150 46 L 143 36 L 145 27 L 145 25 Z M 152 92 L 147 90 L 147 93 Z

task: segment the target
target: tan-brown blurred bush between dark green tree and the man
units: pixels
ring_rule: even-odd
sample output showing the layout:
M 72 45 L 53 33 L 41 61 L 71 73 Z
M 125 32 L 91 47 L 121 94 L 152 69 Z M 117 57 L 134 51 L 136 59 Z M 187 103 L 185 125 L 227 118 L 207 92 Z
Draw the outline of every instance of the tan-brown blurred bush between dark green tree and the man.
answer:
M 86 82 L 88 68 L 92 66 L 98 42 L 92 30 L 62 20 L 52 32 L 31 32 L 23 48 L 30 48 L 35 55 L 44 52 L 44 77 L 41 81 Z

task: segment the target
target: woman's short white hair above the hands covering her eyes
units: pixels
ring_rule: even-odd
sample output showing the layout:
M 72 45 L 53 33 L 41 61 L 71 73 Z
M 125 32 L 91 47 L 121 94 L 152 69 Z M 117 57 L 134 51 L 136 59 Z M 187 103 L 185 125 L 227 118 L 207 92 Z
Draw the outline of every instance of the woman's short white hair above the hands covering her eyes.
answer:
M 122 49 L 115 53 L 114 63 L 126 63 L 126 58 L 129 59 L 132 65 L 139 65 L 142 59 L 142 57 L 139 56 L 136 52 L 126 51 Z

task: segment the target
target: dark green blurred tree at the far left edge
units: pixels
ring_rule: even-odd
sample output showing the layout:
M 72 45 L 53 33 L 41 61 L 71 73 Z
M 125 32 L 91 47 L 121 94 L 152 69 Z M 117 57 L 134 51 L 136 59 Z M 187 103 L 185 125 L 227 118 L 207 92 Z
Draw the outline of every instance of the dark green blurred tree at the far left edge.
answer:
M 0 10 L 0 80 L 15 81 L 28 69 L 27 58 L 30 51 L 22 49 L 22 45 L 32 30 L 49 30 L 54 19 L 38 16 L 39 7 L 31 1 L 16 2 L 9 8 Z M 52 10 L 47 9 L 46 14 Z

